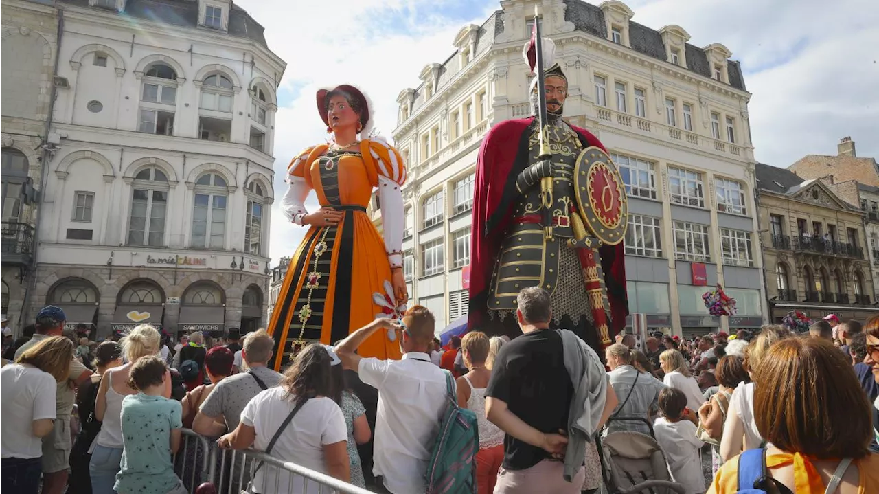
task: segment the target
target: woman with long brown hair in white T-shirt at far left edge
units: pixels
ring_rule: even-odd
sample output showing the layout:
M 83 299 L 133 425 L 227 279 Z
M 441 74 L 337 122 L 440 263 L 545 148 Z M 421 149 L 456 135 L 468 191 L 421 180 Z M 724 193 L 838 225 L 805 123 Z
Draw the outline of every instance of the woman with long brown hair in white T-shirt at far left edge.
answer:
M 0 485 L 3 492 L 36 494 L 42 443 L 53 431 L 55 391 L 66 381 L 73 343 L 46 338 L 0 368 Z

